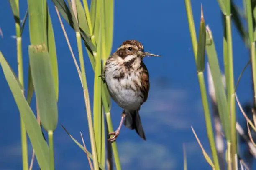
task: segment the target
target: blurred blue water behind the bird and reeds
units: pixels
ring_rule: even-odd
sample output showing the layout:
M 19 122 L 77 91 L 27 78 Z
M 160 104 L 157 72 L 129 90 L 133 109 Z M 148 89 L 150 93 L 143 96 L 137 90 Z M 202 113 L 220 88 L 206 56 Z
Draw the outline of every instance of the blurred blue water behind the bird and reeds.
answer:
M 240 6 L 242 5 L 240 0 L 236 1 Z M 90 148 L 82 87 L 53 3 L 51 1 L 48 3 L 59 65 L 59 124 L 54 133 L 56 170 L 88 169 L 85 153 L 73 143 L 60 125 L 62 123 L 79 142 L 82 142 L 79 134 L 82 131 L 87 148 Z M 210 26 L 215 39 L 220 66 L 223 68 L 223 26 L 218 3 L 216 0 L 192 0 L 197 32 L 201 3 L 206 24 Z M 26 1 L 21 1 L 22 18 L 26 9 Z M 16 41 L 13 38 L 15 23 L 8 1 L 1 2 L 0 16 L 0 27 L 3 31 L 0 50 L 17 72 Z M 182 143 L 185 143 L 188 169 L 210 170 L 210 165 L 203 157 L 191 130 L 193 126 L 205 150 L 210 154 L 184 0 L 157 2 L 155 0 L 117 0 L 114 16 L 113 52 L 123 41 L 136 39 L 144 45 L 146 51 L 163 56 L 144 59 L 150 72 L 151 83 L 148 101 L 142 105 L 140 111 L 147 141 L 139 138 L 135 131 L 122 127 L 117 145 L 123 169 L 181 170 L 183 167 Z M 74 54 L 78 58 L 75 32 L 65 21 L 64 26 Z M 30 43 L 28 23 L 23 32 L 22 42 L 27 87 Z M 84 54 L 86 54 L 85 49 Z M 248 62 L 248 50 L 234 26 L 233 56 L 236 81 Z M 94 75 L 87 55 L 84 62 L 92 105 Z M 250 69 L 246 69 L 241 78 L 237 94 L 241 103 L 251 102 L 253 96 Z M 33 110 L 35 110 L 34 100 L 33 98 Z M 238 119 L 243 121 L 241 112 L 238 107 L 236 108 Z M 118 127 L 121 112 L 122 109 L 113 102 L 111 117 L 114 129 Z M 0 114 L 0 170 L 22 169 L 20 117 L 2 69 L 0 71 Z M 29 153 L 31 158 L 31 146 Z M 34 165 L 35 169 L 36 167 L 38 167 L 37 163 Z

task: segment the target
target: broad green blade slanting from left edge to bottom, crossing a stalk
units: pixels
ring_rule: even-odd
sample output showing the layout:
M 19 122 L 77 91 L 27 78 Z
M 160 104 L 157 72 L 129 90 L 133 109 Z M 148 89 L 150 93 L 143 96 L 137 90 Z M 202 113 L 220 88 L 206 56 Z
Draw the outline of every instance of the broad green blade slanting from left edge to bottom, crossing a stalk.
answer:
M 10 90 L 12 91 L 15 102 L 20 111 L 22 120 L 28 132 L 28 137 L 31 141 L 31 144 L 35 150 L 36 159 L 39 166 L 43 170 L 49 169 L 49 148 L 46 141 L 44 140 L 41 128 L 36 121 L 36 117 L 28 105 L 24 95 L 23 87 L 20 85 L 18 78 L 15 76 L 13 70 L 10 68 L 10 65 L 3 57 L 0 52 L 0 63 L 5 75 L 5 78 L 8 82 Z

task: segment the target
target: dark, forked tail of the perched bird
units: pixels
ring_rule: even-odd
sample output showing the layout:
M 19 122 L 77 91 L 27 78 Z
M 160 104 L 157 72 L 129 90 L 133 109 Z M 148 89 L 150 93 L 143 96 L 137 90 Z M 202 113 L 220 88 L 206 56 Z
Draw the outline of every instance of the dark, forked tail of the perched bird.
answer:
M 124 125 L 131 130 L 135 129 L 138 135 L 144 140 L 146 140 L 146 136 L 141 124 L 141 118 L 138 113 L 138 110 L 135 110 L 135 111 L 124 110 L 124 111 L 126 114 Z

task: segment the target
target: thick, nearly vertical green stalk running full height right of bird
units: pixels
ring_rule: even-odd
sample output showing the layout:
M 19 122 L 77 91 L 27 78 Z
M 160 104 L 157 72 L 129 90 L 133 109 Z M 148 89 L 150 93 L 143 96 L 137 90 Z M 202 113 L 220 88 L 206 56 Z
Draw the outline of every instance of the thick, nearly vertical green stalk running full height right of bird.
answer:
M 231 132 L 231 160 L 232 160 L 232 167 L 236 167 L 236 153 L 237 153 L 237 138 L 236 138 L 236 105 L 235 105 L 235 89 L 234 89 L 234 71 L 233 71 L 233 50 L 232 50 L 232 31 L 231 31 L 231 8 L 230 8 L 230 0 L 225 1 L 226 6 L 226 38 L 227 38 L 227 60 L 228 60 L 228 86 L 227 89 L 230 94 L 227 94 L 228 106 L 230 107 L 230 117 L 231 117 L 231 124 L 230 124 L 230 132 Z M 227 139 L 227 143 L 229 140 Z

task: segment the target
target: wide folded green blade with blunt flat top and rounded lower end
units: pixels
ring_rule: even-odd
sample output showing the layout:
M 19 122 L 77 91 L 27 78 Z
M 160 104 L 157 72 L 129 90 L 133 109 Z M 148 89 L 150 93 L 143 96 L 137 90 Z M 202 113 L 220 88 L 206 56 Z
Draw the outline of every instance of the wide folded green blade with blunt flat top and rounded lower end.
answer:
M 42 125 L 53 131 L 58 123 L 58 108 L 49 53 L 44 45 L 28 47 L 31 75 Z

